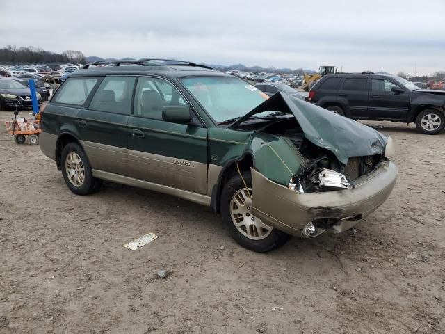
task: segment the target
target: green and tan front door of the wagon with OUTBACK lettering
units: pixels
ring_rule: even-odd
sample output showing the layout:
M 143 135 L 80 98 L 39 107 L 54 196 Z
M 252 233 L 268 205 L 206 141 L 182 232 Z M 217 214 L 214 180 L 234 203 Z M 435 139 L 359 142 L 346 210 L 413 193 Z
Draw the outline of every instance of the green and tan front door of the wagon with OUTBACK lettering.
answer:
M 170 82 L 140 77 L 129 118 L 131 177 L 207 193 L 207 129 L 165 122 L 163 106 L 188 105 Z

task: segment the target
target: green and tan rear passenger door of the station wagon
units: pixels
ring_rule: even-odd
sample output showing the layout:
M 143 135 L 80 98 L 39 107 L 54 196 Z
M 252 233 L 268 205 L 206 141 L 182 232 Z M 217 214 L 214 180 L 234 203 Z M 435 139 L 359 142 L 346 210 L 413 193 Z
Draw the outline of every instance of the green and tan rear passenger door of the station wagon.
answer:
M 77 118 L 92 168 L 129 175 L 128 129 L 136 77 L 105 77 Z

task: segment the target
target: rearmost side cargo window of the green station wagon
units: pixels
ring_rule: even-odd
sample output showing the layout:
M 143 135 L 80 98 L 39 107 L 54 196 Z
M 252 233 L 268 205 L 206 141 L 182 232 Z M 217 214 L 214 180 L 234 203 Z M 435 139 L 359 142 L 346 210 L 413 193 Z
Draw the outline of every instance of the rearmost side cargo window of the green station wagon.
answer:
M 54 102 L 81 106 L 96 84 L 97 78 L 69 78 L 58 90 Z

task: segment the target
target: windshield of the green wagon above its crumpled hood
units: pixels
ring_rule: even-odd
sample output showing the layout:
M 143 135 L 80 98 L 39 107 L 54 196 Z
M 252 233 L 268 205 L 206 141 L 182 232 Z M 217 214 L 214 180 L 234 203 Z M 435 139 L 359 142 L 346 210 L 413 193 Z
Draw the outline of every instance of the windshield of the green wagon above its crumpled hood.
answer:
M 181 82 L 218 123 L 244 116 L 268 99 L 261 90 L 233 77 L 190 77 Z

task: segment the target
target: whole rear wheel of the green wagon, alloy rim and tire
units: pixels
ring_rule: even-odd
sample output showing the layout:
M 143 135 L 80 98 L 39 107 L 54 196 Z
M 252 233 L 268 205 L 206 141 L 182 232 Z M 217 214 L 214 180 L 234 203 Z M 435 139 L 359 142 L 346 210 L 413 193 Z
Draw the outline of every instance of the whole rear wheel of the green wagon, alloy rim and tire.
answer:
M 88 195 L 97 189 L 88 157 L 77 143 L 68 143 L 60 159 L 62 175 L 68 188 L 76 195 Z

